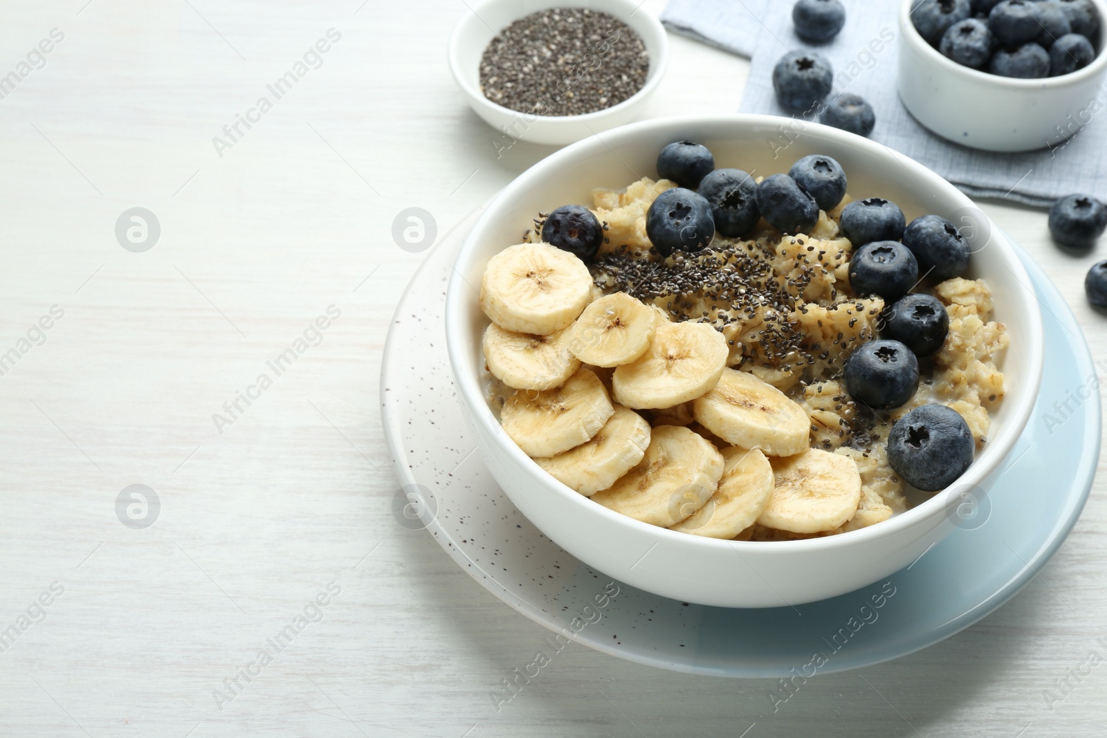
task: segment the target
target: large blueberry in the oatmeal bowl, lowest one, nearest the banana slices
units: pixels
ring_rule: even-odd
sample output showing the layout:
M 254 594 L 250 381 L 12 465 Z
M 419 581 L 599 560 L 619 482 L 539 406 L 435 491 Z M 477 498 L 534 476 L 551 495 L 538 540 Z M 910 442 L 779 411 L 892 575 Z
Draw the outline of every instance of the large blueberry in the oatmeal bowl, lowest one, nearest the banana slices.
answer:
M 920 405 L 888 434 L 888 464 L 915 489 L 937 492 L 972 465 L 974 448 L 960 413 L 945 405 Z

